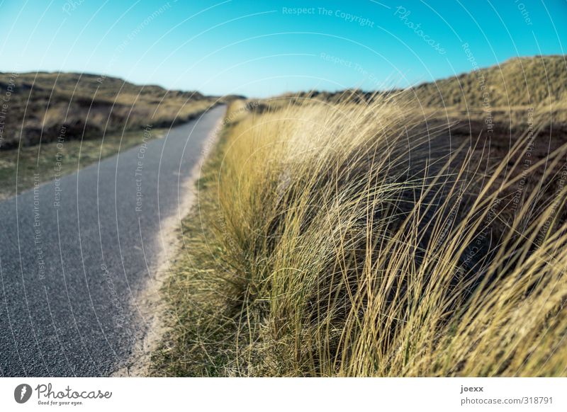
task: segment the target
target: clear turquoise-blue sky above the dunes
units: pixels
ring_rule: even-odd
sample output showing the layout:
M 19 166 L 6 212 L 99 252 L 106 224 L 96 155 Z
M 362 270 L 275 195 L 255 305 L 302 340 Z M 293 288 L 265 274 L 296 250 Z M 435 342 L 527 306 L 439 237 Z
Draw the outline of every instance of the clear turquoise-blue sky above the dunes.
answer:
M 565 54 L 567 0 L 0 0 L 0 27 L 0 71 L 269 96 L 453 76 L 464 43 L 480 67 Z

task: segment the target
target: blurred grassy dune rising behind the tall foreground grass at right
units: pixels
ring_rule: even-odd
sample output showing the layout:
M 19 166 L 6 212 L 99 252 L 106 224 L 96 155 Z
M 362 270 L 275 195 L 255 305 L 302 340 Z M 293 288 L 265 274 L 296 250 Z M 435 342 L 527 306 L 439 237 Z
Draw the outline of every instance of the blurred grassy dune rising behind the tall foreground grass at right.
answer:
M 540 116 L 546 130 L 567 132 L 567 60 L 565 56 L 516 57 L 493 67 L 476 67 L 468 73 L 410 88 L 375 93 L 361 90 L 309 91 L 286 94 L 259 102 L 256 110 L 278 110 L 288 103 L 371 103 L 390 95 L 403 98 L 422 115 L 439 122 L 469 122 L 475 132 L 489 116 L 501 132 L 522 132 L 530 115 Z

